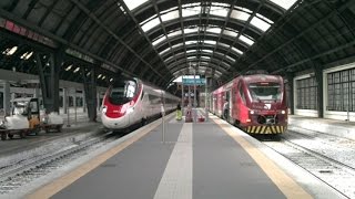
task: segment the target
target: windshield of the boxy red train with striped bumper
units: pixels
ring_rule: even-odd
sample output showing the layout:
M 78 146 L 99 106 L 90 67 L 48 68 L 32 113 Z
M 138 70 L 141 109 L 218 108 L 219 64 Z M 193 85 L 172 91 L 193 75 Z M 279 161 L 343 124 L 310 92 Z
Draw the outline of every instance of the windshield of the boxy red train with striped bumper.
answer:
M 281 85 L 278 83 L 251 83 L 248 85 L 252 100 L 260 101 L 281 101 Z

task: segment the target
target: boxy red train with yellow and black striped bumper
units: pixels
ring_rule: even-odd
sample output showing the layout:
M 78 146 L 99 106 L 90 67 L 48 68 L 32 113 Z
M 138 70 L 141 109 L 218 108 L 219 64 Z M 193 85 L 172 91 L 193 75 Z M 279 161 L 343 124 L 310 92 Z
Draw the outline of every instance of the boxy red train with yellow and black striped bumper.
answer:
M 222 117 L 229 101 L 226 121 L 248 134 L 282 134 L 287 128 L 286 91 L 278 75 L 237 76 L 211 97 L 213 114 Z

